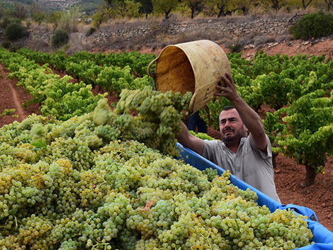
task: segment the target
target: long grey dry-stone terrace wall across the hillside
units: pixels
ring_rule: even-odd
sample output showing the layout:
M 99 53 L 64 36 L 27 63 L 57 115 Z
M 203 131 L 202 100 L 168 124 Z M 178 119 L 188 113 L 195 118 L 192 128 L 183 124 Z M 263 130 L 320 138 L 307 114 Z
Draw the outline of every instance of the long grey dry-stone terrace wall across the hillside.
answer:
M 123 40 L 135 40 L 135 38 L 149 38 L 149 36 L 165 33 L 167 35 L 182 35 L 196 33 L 213 33 L 221 38 L 243 38 L 250 33 L 262 35 L 287 35 L 288 28 L 294 23 L 290 18 L 258 18 L 252 17 L 251 21 L 242 22 L 239 18 L 215 18 L 205 19 L 200 22 L 188 21 L 182 23 L 160 22 L 147 25 L 124 24 L 124 28 L 104 27 L 92 35 L 84 33 L 72 33 L 71 38 L 82 45 L 86 43 L 103 43 L 117 37 Z M 29 31 L 30 40 L 44 42 L 50 45 L 51 33 L 35 33 Z

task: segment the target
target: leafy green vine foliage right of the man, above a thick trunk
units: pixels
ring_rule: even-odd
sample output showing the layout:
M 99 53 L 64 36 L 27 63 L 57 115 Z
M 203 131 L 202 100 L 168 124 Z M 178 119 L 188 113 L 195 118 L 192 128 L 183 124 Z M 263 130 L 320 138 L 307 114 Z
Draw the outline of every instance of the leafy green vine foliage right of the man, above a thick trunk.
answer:
M 269 114 L 264 124 L 274 130 L 276 152 L 322 173 L 326 157 L 333 154 L 333 94 L 307 93 L 291 106 Z M 315 121 L 315 122 L 314 122 Z

